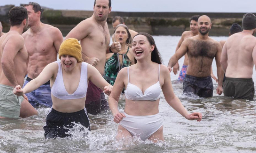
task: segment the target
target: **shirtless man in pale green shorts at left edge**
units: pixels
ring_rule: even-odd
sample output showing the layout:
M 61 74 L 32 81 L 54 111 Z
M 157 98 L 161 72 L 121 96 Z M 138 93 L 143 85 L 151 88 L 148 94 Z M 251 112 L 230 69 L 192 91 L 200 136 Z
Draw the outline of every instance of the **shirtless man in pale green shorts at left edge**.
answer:
M 24 83 L 28 53 L 21 36 L 28 26 L 28 14 L 24 7 L 9 11 L 10 31 L 0 38 L 0 118 L 19 118 L 37 115 L 33 106 L 24 98 L 13 94 L 13 87 Z

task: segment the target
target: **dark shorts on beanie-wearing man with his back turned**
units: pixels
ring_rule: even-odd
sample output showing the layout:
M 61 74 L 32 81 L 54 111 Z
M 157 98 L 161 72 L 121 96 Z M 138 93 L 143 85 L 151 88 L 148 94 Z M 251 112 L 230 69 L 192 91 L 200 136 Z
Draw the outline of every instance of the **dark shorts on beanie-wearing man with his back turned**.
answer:
M 252 78 L 230 78 L 226 77 L 223 84 L 223 93 L 225 96 L 234 97 L 235 99 L 253 100 L 254 82 Z

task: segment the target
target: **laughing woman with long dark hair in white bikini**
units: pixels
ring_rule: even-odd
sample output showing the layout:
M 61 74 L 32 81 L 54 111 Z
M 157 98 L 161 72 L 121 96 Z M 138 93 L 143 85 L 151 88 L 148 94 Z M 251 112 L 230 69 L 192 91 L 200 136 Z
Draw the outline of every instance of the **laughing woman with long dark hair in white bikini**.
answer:
M 148 33 L 132 40 L 135 64 L 121 69 L 109 96 L 109 107 L 118 126 L 117 139 L 137 136 L 141 140 L 164 141 L 163 120 L 158 105 L 161 90 L 165 100 L 188 120 L 202 120 L 201 113 L 188 114 L 172 89 L 169 70 L 162 65 L 155 41 Z M 120 113 L 118 99 L 125 87 L 125 108 Z

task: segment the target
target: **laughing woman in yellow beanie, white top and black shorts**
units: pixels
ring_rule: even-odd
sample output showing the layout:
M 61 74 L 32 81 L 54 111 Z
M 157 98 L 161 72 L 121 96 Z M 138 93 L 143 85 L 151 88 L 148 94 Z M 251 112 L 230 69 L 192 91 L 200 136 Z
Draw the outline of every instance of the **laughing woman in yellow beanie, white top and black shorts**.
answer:
M 46 116 L 45 139 L 69 136 L 66 133 L 73 127 L 73 122 L 80 122 L 91 131 L 84 108 L 88 82 L 91 80 L 108 95 L 112 89 L 96 68 L 83 62 L 77 39 L 67 39 L 60 45 L 59 58 L 60 61 L 48 64 L 23 89 L 17 85 L 13 90 L 14 94 L 22 96 L 50 80 L 52 108 Z

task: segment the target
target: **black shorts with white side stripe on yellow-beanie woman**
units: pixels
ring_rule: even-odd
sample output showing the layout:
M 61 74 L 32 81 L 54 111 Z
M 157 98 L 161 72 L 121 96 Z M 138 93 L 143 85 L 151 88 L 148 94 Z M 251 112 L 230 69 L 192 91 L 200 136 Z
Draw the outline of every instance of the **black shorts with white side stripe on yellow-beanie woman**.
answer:
M 69 131 L 67 128 L 73 128 L 74 124 L 72 122 L 80 122 L 81 125 L 91 131 L 90 121 L 85 108 L 74 113 L 61 113 L 51 108 L 46 116 L 44 138 L 53 139 L 71 136 L 70 134 L 66 134 L 66 132 Z

